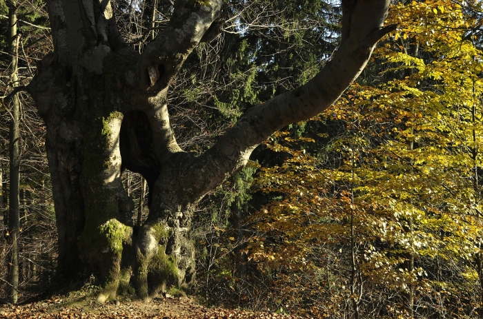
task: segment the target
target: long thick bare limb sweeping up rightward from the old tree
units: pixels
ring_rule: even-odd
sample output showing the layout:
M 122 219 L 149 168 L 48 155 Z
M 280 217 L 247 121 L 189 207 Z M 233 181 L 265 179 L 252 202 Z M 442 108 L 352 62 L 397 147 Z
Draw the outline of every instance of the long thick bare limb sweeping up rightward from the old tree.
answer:
M 383 27 L 389 0 L 345 0 L 342 43 L 333 59 L 305 85 L 248 110 L 219 141 L 186 168 L 193 192 L 203 196 L 243 167 L 259 143 L 282 127 L 331 106 L 362 72 L 375 43 L 396 25 Z

